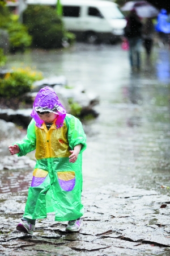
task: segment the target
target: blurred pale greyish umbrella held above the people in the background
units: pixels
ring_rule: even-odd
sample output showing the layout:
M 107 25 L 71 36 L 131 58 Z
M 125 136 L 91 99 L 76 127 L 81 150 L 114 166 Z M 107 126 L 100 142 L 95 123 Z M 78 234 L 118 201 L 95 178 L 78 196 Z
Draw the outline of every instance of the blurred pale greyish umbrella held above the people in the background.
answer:
M 137 15 L 141 18 L 151 18 L 159 14 L 159 10 L 147 1 L 129 1 L 121 8 L 122 11 L 131 11 L 135 9 Z

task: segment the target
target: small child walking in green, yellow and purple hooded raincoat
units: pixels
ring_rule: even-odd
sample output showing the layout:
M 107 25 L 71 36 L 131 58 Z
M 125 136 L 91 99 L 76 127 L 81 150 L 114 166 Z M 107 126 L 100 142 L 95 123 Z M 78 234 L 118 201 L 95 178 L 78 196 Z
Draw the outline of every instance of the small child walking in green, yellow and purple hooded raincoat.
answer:
M 82 152 L 86 135 L 79 119 L 66 114 L 52 88 L 42 88 L 35 98 L 27 135 L 9 146 L 11 155 L 36 149 L 36 166 L 25 213 L 16 229 L 33 234 L 37 218 L 55 212 L 55 221 L 69 221 L 67 232 L 82 228 Z

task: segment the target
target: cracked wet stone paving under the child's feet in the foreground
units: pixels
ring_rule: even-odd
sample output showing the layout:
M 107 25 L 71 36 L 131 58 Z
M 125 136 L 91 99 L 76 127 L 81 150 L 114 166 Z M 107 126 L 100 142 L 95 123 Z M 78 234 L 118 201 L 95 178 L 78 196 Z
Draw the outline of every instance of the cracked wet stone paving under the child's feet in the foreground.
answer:
M 83 228 L 66 233 L 54 215 L 38 220 L 33 236 L 15 227 L 27 191 L 2 193 L 0 255 L 169 255 L 170 197 L 127 185 L 84 190 Z

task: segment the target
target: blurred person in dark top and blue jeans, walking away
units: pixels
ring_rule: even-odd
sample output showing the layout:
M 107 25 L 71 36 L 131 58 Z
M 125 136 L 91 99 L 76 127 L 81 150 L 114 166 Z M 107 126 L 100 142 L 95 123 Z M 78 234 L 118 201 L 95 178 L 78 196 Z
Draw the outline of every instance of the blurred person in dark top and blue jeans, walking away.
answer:
M 129 42 L 129 60 L 131 68 L 141 68 L 142 22 L 135 9 L 127 16 L 125 38 Z

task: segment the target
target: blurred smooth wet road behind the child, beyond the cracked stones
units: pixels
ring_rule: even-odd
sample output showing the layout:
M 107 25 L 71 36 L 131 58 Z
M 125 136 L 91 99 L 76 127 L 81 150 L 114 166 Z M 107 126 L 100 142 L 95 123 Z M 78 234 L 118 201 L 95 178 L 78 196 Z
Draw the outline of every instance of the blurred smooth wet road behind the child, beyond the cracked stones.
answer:
M 170 75 L 168 49 L 154 49 L 151 63 L 142 52 L 141 72 L 131 72 L 128 52 L 117 46 L 76 44 L 57 52 L 10 56 L 10 67 L 36 67 L 45 77 L 64 75 L 100 97 L 99 117 L 84 123 L 84 187 L 98 183 L 169 185 Z M 94 183 L 95 180 L 95 183 Z M 168 193 L 167 189 L 161 189 Z

